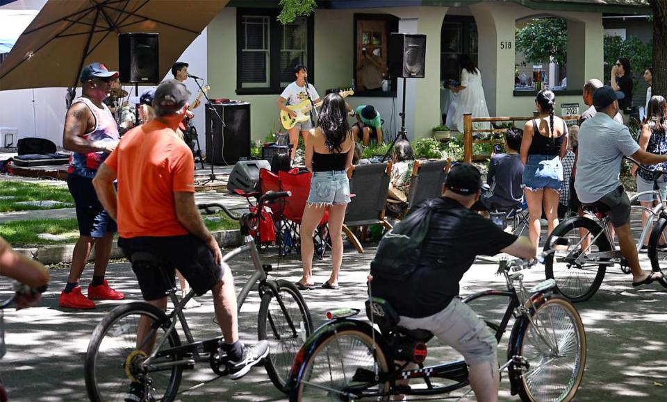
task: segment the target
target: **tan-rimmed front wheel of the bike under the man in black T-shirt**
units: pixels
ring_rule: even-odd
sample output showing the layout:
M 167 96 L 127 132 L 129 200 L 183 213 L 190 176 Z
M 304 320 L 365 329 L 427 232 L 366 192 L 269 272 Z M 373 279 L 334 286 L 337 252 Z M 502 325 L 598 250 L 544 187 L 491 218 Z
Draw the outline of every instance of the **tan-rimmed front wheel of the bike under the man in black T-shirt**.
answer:
M 572 400 L 586 366 L 586 333 L 577 309 L 565 299 L 547 300 L 524 328 L 518 351 L 528 367 L 521 376 L 521 400 Z

